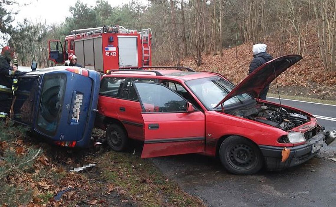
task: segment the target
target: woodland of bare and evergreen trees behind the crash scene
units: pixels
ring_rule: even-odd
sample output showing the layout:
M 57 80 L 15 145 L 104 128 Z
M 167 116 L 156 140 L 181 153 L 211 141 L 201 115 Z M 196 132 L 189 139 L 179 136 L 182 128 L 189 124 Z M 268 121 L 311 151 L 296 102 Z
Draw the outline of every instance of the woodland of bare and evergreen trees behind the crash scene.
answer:
M 32 60 L 42 67 L 48 61 L 48 39 L 64 40 L 71 30 L 102 25 L 153 31 L 153 63 L 180 65 L 191 57 L 197 66 L 204 55 L 223 55 L 244 43 L 271 42 L 273 56 L 318 53 L 321 67 L 334 73 L 336 53 L 336 0 L 131 0 L 112 7 L 105 0 L 91 6 L 78 0 L 64 21 L 46 24 L 24 20 L 14 27 L 15 15 L 6 9 L 15 0 L 1 0 L 0 31 L 22 65 Z M 19 5 L 20 6 L 20 5 Z M 19 12 L 19 11 L 17 11 Z M 309 48 L 309 42 L 318 48 Z M 252 48 L 252 45 L 251 45 Z M 240 54 L 236 49 L 236 58 Z M 252 54 L 251 54 L 252 57 Z

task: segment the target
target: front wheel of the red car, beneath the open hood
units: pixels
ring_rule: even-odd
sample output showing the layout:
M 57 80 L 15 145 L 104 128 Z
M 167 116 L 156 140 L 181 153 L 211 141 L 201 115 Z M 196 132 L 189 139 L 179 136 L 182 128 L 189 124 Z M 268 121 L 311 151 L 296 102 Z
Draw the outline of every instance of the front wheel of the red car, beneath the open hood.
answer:
M 230 136 L 222 142 L 219 158 L 225 169 L 234 174 L 254 174 L 263 166 L 263 156 L 258 146 L 240 136 Z

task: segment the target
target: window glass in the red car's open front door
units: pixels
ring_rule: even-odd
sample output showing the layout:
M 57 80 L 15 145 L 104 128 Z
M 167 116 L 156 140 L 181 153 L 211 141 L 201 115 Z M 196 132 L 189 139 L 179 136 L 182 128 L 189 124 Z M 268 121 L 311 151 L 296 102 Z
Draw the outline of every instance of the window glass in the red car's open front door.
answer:
M 134 82 L 143 112 L 185 112 L 187 102 L 161 84 Z

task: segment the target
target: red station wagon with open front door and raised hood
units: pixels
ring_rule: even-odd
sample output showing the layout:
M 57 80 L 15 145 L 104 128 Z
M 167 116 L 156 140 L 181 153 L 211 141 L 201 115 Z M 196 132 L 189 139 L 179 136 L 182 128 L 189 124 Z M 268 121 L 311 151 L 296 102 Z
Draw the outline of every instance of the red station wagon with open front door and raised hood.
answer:
M 96 123 L 115 151 L 129 139 L 143 141 L 141 158 L 201 153 L 218 156 L 236 174 L 295 166 L 319 152 L 324 127 L 258 94 L 301 59 L 271 60 L 236 87 L 220 74 L 189 68 L 113 71 L 101 79 Z

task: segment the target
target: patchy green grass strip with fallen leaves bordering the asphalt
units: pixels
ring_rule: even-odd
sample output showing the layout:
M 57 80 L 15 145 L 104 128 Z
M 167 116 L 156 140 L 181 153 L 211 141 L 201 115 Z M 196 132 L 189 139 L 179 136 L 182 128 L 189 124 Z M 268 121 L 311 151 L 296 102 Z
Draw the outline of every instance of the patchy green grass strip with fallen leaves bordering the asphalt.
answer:
M 109 151 L 101 160 L 101 177 L 140 206 L 204 206 L 139 155 Z

